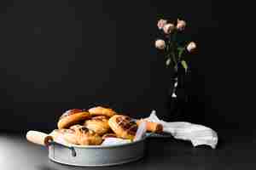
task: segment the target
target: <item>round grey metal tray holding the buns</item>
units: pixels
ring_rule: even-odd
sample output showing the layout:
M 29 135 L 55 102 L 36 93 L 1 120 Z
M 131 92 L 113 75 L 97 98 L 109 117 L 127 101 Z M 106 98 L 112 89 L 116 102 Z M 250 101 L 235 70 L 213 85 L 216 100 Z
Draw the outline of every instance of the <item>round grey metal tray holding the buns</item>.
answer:
M 49 143 L 49 159 L 79 167 L 103 167 L 123 164 L 143 158 L 145 139 L 110 146 L 78 146 Z

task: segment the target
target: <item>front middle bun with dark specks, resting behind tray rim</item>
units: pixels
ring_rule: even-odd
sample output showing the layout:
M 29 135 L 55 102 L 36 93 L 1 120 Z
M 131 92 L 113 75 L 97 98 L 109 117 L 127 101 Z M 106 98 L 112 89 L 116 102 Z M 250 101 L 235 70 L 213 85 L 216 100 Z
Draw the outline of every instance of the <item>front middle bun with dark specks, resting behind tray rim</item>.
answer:
M 75 128 L 76 138 L 79 144 L 82 145 L 97 145 L 102 144 L 102 137 L 87 127 Z

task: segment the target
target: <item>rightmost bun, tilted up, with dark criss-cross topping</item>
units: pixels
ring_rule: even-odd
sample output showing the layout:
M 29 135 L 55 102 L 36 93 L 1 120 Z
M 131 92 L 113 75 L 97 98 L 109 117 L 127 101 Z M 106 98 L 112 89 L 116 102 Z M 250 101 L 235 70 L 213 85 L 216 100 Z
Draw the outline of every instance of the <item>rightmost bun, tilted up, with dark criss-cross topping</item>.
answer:
M 129 116 L 115 115 L 108 120 L 109 127 L 122 139 L 134 139 L 137 132 L 137 124 Z

